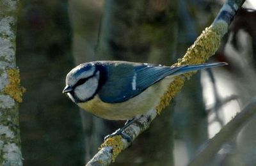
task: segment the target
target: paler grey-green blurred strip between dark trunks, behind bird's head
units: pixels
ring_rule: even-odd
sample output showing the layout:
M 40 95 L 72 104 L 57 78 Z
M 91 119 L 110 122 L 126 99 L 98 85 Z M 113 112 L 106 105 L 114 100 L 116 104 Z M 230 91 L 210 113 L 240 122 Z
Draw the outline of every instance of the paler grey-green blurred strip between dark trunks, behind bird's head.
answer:
M 95 61 L 95 48 L 99 33 L 101 1 L 70 1 L 69 15 L 73 27 L 72 55 L 75 63 Z M 104 138 L 104 120 L 80 110 L 85 142 L 85 162 L 88 162 L 98 150 Z

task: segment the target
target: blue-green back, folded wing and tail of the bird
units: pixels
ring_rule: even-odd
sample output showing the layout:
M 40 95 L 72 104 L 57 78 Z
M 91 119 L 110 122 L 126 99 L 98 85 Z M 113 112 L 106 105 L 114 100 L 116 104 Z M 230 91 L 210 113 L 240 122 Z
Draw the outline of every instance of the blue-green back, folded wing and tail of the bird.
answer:
M 98 92 L 100 99 L 107 103 L 120 103 L 145 91 L 168 75 L 223 66 L 227 63 L 205 63 L 192 66 L 159 66 L 155 64 L 113 62 L 106 65 L 107 77 Z

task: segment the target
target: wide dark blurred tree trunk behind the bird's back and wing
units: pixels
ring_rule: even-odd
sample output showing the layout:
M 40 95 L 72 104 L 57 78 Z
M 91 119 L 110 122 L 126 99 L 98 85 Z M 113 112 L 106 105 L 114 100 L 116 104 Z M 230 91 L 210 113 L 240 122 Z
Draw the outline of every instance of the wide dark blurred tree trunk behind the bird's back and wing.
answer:
M 97 60 L 172 64 L 177 41 L 176 11 L 176 1 L 106 1 Z M 113 165 L 172 165 L 171 119 L 172 111 L 165 110 Z

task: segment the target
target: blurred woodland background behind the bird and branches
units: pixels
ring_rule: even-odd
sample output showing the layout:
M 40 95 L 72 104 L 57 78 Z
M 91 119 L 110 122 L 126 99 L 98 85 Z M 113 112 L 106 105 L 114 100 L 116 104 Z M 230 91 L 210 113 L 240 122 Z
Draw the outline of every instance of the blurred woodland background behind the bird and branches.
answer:
M 124 121 L 79 110 L 61 93 L 79 63 L 124 60 L 171 65 L 210 26 L 224 1 L 24 0 L 17 66 L 24 165 L 84 165 Z M 255 96 L 256 3 L 246 1 L 209 61 L 228 66 L 197 73 L 112 165 L 187 165 L 208 139 Z M 256 165 L 256 118 L 207 165 Z

